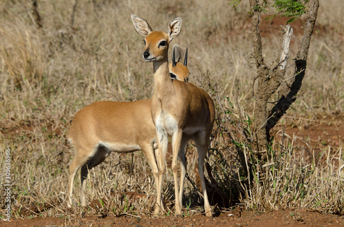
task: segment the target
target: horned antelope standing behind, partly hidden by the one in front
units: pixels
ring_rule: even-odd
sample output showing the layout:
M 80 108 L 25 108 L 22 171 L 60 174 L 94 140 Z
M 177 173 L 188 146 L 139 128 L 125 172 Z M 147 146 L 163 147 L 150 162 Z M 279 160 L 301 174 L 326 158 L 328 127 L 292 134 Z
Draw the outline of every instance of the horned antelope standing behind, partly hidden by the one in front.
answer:
M 173 49 L 182 52 L 178 45 Z M 171 65 L 170 72 L 173 80 L 188 80 L 186 61 L 184 65 L 179 62 Z M 79 110 L 69 129 L 68 140 L 75 147 L 76 155 L 69 167 L 68 206 L 72 205 L 74 178 L 78 169 L 81 167 L 81 205 L 85 206 L 84 191 L 88 171 L 102 163 L 111 152 L 142 150 L 152 169 L 155 184 L 158 184 L 158 166 L 154 154 L 158 145 L 155 138 L 151 99 L 131 102 L 96 101 Z M 155 213 L 159 212 L 160 204 L 162 202 L 155 204 Z

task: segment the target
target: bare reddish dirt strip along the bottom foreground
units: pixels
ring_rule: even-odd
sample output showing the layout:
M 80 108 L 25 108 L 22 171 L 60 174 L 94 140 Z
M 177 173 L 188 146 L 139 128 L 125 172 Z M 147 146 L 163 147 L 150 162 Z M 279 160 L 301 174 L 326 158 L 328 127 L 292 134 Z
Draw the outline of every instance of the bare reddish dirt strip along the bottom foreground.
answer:
M 61 219 L 46 217 L 36 219 L 13 219 L 1 222 L 1 226 L 343 226 L 344 218 L 337 215 L 324 215 L 318 212 L 297 208 L 292 211 L 224 212 L 217 217 L 201 215 L 189 217 L 83 217 Z

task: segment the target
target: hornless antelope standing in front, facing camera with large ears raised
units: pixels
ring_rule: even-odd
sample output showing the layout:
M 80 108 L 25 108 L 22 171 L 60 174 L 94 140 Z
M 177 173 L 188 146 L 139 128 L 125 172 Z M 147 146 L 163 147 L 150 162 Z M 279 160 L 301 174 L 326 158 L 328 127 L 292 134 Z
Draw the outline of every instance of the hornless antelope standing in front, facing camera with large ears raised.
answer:
M 198 152 L 198 171 L 204 195 L 204 210 L 206 216 L 212 216 L 211 207 L 206 193 L 204 180 L 204 157 L 208 150 L 215 108 L 209 95 L 191 83 L 171 80 L 169 75 L 168 50 L 169 43 L 178 36 L 182 25 L 180 17 L 173 19 L 168 26 L 168 33 L 154 32 L 144 19 L 131 14 L 131 20 L 136 32 L 144 36 L 144 53 L 146 62 L 153 62 L 153 95 L 151 101 L 151 116 L 157 132 L 158 142 L 158 174 L 157 202 L 160 202 L 162 178 L 166 169 L 166 150 L 168 136 L 172 136 L 172 171 L 175 182 L 175 214 L 182 214 L 182 195 L 186 174 L 184 149 L 186 143 L 195 141 Z M 178 154 L 182 161 L 180 189 L 178 189 Z M 161 204 L 162 206 L 162 204 Z

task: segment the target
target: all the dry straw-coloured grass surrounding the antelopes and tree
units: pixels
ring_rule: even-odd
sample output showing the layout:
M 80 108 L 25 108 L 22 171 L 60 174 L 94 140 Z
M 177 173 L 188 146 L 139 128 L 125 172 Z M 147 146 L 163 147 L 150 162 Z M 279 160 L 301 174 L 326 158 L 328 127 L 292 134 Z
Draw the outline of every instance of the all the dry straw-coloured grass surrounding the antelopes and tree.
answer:
M 71 26 L 74 1 L 39 1 L 43 28 L 36 25 L 30 1 L 0 3 L 0 150 L 12 151 L 12 205 L 47 204 L 54 207 L 36 216 L 80 217 L 85 213 L 102 215 L 104 209 L 75 206 L 67 211 L 67 169 L 74 151 L 66 133 L 75 113 L 98 100 L 132 101 L 151 96 L 151 64 L 141 59 L 143 45 L 130 20 L 130 14 L 147 19 L 153 29 L 166 30 L 167 23 L 181 16 L 182 32 L 173 43 L 189 47 L 191 82 L 197 80 L 213 93 L 217 104 L 217 136 L 212 141 L 208 163 L 213 177 L 228 200 L 248 209 L 263 210 L 307 206 L 323 212 L 343 211 L 343 156 L 341 148 L 328 156 L 325 165 L 313 165 L 293 152 L 292 144 L 272 147 L 271 165 L 257 169 L 251 187 L 246 186 L 244 169 L 235 164 L 246 154 L 254 98 L 250 67 L 250 27 L 247 5 L 233 10 L 228 1 L 79 1 L 74 26 Z M 321 2 L 308 68 L 297 101 L 290 115 L 343 115 L 344 23 L 340 20 L 343 4 L 339 0 Z M 152 13 L 153 12 L 153 13 Z M 264 37 L 264 56 L 278 54 L 279 31 Z M 300 37 L 294 36 L 291 58 L 297 53 Z M 268 46 L 269 45 L 269 46 Z M 291 67 L 292 68 L 292 67 Z M 206 73 L 207 72 L 207 73 Z M 292 72 L 288 72 L 289 75 Z M 211 84 L 202 75 L 211 77 Z M 212 92 L 213 91 L 213 92 Z M 230 134 L 235 140 L 229 141 Z M 278 142 L 278 141 L 277 141 Z M 276 143 L 278 144 L 278 143 Z M 332 150 L 331 150 L 332 151 Z M 189 154 L 184 206 L 199 206 L 193 148 Z M 338 156 L 338 154 L 340 154 Z M 332 165 L 336 157 L 336 165 Z M 220 163 L 222 160 L 223 163 Z M 255 161 L 253 160 L 253 163 Z M 4 169 L 5 158 L 0 158 Z M 117 165 L 117 164 L 120 165 Z M 218 164 L 217 167 L 214 165 Z M 173 208 L 171 173 L 167 172 L 164 194 L 167 214 Z M 228 187 L 226 177 L 233 178 Z M 1 174 L 1 182 L 3 175 Z M 239 181 L 241 179 L 242 181 Z M 92 170 L 87 187 L 88 201 L 110 198 L 111 193 L 136 191 L 147 195 L 141 202 L 111 200 L 105 209 L 115 215 L 150 215 L 153 209 L 153 178 L 147 162 L 137 152 L 118 156 Z M 292 182 L 292 183 L 291 183 Z M 331 187 L 328 187 L 328 186 Z M 75 191 L 79 182 L 76 181 Z M 1 188 L 2 191 L 2 188 Z M 233 195 L 235 194 L 235 195 Z M 74 200 L 78 201 L 77 193 Z M 61 202 L 61 203 L 60 203 Z M 3 208 L 5 202 L 0 201 Z M 186 209 L 188 214 L 200 213 Z M 173 212 L 173 210 L 172 210 Z M 19 215 L 15 217 L 28 217 Z

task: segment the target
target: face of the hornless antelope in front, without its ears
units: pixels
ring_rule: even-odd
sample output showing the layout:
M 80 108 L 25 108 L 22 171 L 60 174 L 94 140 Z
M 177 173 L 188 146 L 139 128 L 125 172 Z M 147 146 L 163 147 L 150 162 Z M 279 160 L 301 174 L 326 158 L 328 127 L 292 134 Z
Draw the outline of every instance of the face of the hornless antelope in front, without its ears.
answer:
M 151 32 L 144 38 L 142 58 L 146 62 L 166 60 L 169 51 L 169 36 L 165 32 Z

